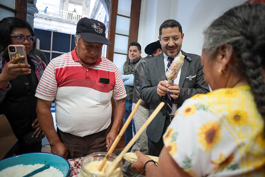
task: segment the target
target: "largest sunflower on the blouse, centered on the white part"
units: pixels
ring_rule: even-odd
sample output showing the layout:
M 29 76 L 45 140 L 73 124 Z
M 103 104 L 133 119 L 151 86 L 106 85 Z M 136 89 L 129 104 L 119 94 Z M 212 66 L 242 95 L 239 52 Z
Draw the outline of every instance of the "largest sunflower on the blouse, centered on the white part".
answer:
M 199 138 L 199 143 L 205 148 L 205 152 L 211 150 L 213 145 L 217 145 L 218 142 L 222 140 L 221 137 L 221 125 L 216 122 L 207 122 L 199 128 L 201 131 L 197 133 Z

